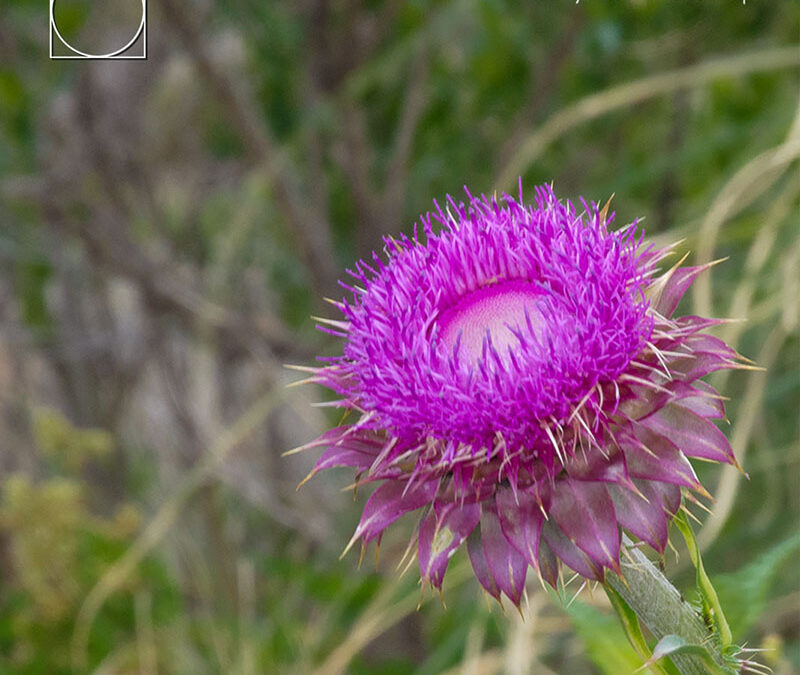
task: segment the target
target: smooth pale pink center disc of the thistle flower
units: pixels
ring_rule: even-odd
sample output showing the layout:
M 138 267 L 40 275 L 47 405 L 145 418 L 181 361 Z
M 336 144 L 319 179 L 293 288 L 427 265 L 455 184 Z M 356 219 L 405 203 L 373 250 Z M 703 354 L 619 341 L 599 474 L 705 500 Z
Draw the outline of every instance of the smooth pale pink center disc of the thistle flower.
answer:
M 542 316 L 536 301 L 541 295 L 541 290 L 529 281 L 504 281 L 471 291 L 439 315 L 439 340 L 451 354 L 460 335 L 459 353 L 474 363 L 481 358 L 488 334 L 500 358 L 507 362 L 509 349 L 519 345 L 514 330 L 529 333 L 530 320 L 538 333 Z

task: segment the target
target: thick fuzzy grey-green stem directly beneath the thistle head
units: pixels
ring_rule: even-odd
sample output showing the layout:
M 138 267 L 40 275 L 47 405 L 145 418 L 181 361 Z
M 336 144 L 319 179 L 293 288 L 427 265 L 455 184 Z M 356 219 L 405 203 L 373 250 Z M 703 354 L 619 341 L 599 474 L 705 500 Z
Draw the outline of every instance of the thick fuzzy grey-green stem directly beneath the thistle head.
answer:
M 723 665 L 721 654 L 708 639 L 711 633 L 701 616 L 628 537 L 623 536 L 622 543 L 627 554 L 622 559 L 624 580 L 609 572 L 606 584 L 622 597 L 657 640 L 665 635 L 679 635 L 689 644 L 704 645 L 712 658 Z M 693 654 L 672 654 L 670 658 L 682 675 L 708 673 L 703 660 Z

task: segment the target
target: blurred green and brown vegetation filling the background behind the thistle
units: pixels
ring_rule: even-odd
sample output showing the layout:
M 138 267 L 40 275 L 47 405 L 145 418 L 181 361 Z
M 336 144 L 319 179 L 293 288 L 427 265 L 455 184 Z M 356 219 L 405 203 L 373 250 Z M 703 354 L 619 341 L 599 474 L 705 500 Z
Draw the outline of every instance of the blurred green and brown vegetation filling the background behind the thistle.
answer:
M 459 555 L 417 609 L 402 537 L 338 559 L 348 473 L 280 457 L 335 421 L 282 364 L 339 348 L 341 270 L 520 174 L 730 258 L 685 310 L 766 371 L 715 382 L 750 479 L 707 468 L 698 538 L 800 670 L 797 3 L 150 0 L 147 61 L 49 61 L 46 21 L 0 13 L 0 672 L 632 672 L 602 593 L 523 621 Z

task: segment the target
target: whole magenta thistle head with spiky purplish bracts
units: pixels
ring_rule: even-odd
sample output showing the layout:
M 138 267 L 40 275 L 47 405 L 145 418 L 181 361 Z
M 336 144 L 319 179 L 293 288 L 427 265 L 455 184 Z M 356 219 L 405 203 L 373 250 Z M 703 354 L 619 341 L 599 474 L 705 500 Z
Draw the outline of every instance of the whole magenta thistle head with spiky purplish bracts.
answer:
M 636 223 L 610 231 L 550 187 L 467 195 L 349 271 L 322 328 L 343 354 L 309 379 L 355 415 L 304 447 L 324 449 L 312 475 L 378 484 L 349 546 L 416 511 L 423 580 L 441 589 L 466 541 L 518 605 L 529 566 L 553 586 L 561 564 L 619 572 L 621 528 L 663 553 L 682 488 L 707 495 L 687 458 L 735 464 L 700 378 L 739 357 L 705 332 L 718 320 L 673 316 L 708 265 L 665 271 Z

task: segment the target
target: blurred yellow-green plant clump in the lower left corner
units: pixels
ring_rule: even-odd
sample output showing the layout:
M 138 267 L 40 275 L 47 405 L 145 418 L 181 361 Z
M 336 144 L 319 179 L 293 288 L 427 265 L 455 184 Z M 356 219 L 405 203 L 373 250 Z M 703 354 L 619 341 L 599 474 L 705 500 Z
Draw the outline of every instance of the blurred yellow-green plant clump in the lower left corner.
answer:
M 43 456 L 60 470 L 36 482 L 22 474 L 3 482 L 0 532 L 7 538 L 14 583 L 0 596 L 0 645 L 4 672 L 68 673 L 75 615 L 88 590 L 130 545 L 141 513 L 132 504 L 121 504 L 112 517 L 103 518 L 89 508 L 87 486 L 76 472 L 109 452 L 107 432 L 76 429 L 44 409 L 36 411 L 34 429 Z M 157 582 L 159 569 L 143 566 L 142 578 L 129 579 L 126 591 Z M 174 593 L 164 588 L 159 611 L 170 596 Z M 104 654 L 108 639 L 132 629 L 130 603 L 109 603 L 102 620 L 104 639 L 93 651 Z

